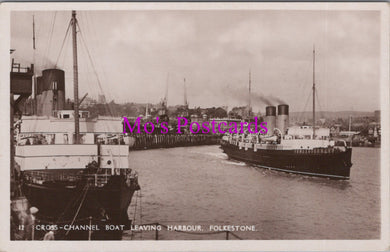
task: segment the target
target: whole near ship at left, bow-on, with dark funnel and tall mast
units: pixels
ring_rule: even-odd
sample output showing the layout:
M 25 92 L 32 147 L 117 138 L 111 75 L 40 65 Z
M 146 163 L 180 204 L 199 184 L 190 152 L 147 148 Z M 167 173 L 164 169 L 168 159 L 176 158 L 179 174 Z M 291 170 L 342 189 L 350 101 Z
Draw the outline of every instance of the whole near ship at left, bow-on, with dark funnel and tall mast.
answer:
M 42 71 L 34 85 L 35 115 L 15 124 L 14 172 L 28 202 L 38 208 L 40 224 L 50 224 L 46 232 L 54 231 L 56 240 L 121 239 L 131 224 L 127 210 L 140 189 L 138 175 L 129 166 L 121 119 L 91 118 L 79 110 L 75 11 L 71 25 L 74 103 L 65 101 L 64 71 Z M 28 89 L 31 76 L 12 79 L 17 75 L 11 73 L 12 88 Z M 65 230 L 64 225 L 98 228 Z M 105 231 L 106 225 L 120 229 Z

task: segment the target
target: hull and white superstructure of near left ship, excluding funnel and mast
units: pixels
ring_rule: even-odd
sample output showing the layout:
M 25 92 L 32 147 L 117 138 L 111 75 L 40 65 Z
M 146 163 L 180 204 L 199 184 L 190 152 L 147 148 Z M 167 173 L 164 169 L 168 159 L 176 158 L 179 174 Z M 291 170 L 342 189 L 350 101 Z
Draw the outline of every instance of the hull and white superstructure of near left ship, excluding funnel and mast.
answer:
M 66 225 L 120 226 L 120 230 L 94 232 L 90 239 L 120 239 L 130 225 L 127 209 L 139 190 L 137 173 L 130 168 L 128 146 L 117 132 L 96 133 L 107 120 L 80 119 L 80 140 L 67 127 L 70 118 L 23 117 L 16 136 L 15 162 L 20 183 L 31 206 L 39 209 L 41 224 L 55 225 L 59 239 L 88 239 L 85 230 L 68 232 Z M 36 127 L 37 130 L 33 131 Z M 119 139 L 112 141 L 110 139 Z M 121 142 L 123 144 L 121 144 Z M 62 230 L 62 228 L 64 228 Z M 47 230 L 48 231 L 48 230 Z

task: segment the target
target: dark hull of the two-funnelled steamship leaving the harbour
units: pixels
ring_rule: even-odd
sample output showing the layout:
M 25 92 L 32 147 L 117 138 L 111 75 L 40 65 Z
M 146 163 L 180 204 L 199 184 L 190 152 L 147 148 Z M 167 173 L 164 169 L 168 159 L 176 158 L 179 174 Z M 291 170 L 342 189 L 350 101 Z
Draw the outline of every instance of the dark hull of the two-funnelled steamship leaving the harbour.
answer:
M 272 150 L 240 148 L 222 142 L 221 148 L 229 158 L 276 171 L 332 179 L 349 179 L 352 149 L 340 152 Z

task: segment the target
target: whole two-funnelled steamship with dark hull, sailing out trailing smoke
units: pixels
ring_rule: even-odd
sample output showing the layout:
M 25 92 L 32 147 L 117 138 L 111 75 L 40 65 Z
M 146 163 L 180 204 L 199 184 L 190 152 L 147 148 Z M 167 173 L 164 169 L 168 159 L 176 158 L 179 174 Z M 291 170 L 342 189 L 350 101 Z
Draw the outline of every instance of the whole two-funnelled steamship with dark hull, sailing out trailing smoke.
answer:
M 315 125 L 313 50 L 313 125 L 289 127 L 289 106 L 267 106 L 267 134 L 225 135 L 221 148 L 229 158 L 276 171 L 333 179 L 349 179 L 352 149 Z

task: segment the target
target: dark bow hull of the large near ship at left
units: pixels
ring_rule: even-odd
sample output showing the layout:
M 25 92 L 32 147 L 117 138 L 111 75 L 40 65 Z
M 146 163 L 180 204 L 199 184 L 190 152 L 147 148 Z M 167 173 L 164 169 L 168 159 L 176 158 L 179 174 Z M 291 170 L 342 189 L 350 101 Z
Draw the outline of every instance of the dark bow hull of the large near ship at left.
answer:
M 52 171 L 56 172 L 61 171 Z M 127 209 L 138 189 L 138 184 L 126 183 L 122 175 L 110 176 L 101 187 L 86 180 L 71 185 L 22 183 L 30 205 L 39 209 L 39 223 L 52 224 L 49 229 L 55 232 L 56 240 L 120 240 L 130 226 Z M 37 236 L 47 231 L 36 229 Z

